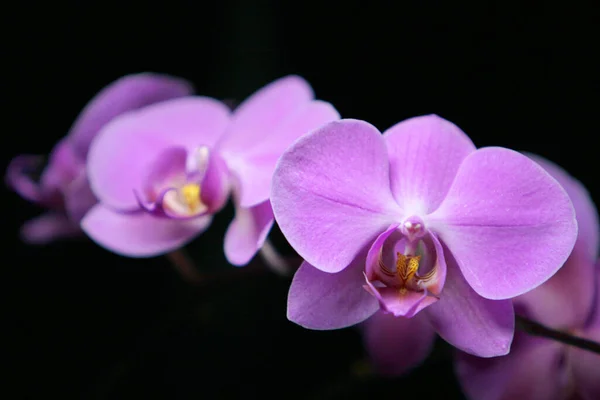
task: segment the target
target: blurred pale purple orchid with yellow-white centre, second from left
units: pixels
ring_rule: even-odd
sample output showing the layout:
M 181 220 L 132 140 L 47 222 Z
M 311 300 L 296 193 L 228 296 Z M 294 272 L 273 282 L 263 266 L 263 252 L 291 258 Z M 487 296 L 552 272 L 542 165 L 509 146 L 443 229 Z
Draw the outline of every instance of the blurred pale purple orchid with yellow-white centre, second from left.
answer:
M 230 115 L 225 104 L 186 97 L 127 113 L 90 148 L 88 175 L 99 199 L 82 221 L 101 246 L 130 257 L 175 250 L 203 232 L 234 199 L 225 254 L 244 265 L 273 225 L 271 176 L 283 151 L 337 111 L 288 76 Z

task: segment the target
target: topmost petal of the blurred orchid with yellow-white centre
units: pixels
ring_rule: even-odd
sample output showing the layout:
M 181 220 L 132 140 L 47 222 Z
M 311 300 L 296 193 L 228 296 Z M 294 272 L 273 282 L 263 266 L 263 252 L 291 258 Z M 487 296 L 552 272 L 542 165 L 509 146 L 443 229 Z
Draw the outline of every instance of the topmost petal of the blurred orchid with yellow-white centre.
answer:
M 283 121 L 308 104 L 312 88 L 299 76 L 280 78 L 240 104 L 218 149 L 223 154 L 243 154 L 262 145 Z

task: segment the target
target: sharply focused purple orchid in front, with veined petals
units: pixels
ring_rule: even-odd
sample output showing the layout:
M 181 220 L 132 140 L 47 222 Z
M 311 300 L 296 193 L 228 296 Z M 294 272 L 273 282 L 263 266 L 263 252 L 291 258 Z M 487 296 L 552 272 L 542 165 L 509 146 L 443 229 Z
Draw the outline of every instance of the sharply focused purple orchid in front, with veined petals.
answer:
M 442 338 L 482 357 L 509 351 L 508 299 L 550 278 L 577 235 L 571 201 L 539 165 L 476 150 L 437 116 L 383 135 L 349 119 L 313 131 L 281 157 L 271 201 L 305 259 L 290 320 L 337 329 L 379 309 L 423 312 Z

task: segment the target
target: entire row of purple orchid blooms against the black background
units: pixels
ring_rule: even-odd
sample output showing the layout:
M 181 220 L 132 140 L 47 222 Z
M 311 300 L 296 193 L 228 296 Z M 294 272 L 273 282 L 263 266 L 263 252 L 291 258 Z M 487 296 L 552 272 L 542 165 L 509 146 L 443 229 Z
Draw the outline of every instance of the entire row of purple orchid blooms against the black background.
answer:
M 297 76 L 231 111 L 183 80 L 138 74 L 90 102 L 38 183 L 39 164 L 19 156 L 7 172 L 51 210 L 23 227 L 29 242 L 83 232 L 118 254 L 157 256 L 231 199 L 229 262 L 247 264 L 276 220 L 304 259 L 288 318 L 359 326 L 381 373 L 421 363 L 437 334 L 461 351 L 472 399 L 600 398 L 600 356 L 515 336 L 516 312 L 600 340 L 597 211 L 540 157 L 477 149 L 435 115 L 382 134 L 340 119 Z

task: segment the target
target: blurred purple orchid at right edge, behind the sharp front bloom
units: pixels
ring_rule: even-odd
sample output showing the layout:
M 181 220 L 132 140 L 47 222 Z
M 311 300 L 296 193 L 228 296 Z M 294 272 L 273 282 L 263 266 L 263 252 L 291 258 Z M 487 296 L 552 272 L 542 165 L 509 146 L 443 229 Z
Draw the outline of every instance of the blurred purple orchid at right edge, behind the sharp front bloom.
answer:
M 579 222 L 565 265 L 546 283 L 514 300 L 518 314 L 550 328 L 600 341 L 598 213 L 581 183 L 557 165 L 531 156 L 566 189 Z M 600 399 L 600 355 L 518 332 L 510 354 L 495 359 L 457 355 L 456 371 L 473 400 Z

